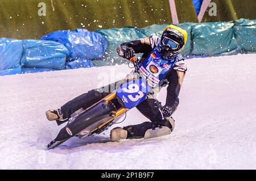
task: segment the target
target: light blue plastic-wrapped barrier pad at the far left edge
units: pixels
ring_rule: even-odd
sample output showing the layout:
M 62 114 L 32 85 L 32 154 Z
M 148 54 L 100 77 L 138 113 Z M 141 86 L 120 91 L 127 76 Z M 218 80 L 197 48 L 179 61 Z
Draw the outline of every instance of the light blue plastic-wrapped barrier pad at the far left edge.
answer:
M 23 45 L 21 40 L 0 39 L 0 70 L 16 72 L 14 69 L 20 66 Z M 9 71 L 9 70 L 7 70 Z

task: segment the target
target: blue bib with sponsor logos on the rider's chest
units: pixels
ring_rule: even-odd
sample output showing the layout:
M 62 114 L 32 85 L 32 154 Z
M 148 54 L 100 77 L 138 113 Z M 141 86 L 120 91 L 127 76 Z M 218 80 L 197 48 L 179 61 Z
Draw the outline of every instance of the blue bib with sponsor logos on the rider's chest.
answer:
M 163 59 L 158 45 L 138 66 L 148 85 L 155 88 L 164 85 L 168 72 L 173 68 L 177 61 L 178 58 L 176 57 L 172 57 L 168 60 Z

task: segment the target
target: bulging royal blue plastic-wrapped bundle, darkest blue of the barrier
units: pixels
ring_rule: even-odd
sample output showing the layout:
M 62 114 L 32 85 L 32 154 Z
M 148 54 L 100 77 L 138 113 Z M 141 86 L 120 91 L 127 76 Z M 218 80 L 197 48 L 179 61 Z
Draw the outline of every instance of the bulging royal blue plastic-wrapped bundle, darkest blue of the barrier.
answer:
M 78 28 L 75 31 L 60 30 L 48 33 L 41 39 L 57 41 L 65 45 L 70 51 L 68 60 L 101 58 L 108 47 L 108 42 L 104 36 L 83 28 Z

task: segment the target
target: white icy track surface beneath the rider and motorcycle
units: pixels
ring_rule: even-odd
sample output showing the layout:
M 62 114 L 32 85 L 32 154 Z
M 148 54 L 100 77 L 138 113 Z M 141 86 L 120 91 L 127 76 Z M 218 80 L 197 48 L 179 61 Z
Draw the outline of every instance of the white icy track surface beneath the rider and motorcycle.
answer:
M 0 169 L 256 169 L 256 54 L 186 60 L 168 136 L 109 142 L 109 131 L 72 138 L 44 112 L 129 73 L 127 65 L 0 77 Z M 109 70 L 111 71 L 109 73 Z M 164 104 L 166 89 L 160 92 Z M 136 109 L 116 126 L 146 121 Z

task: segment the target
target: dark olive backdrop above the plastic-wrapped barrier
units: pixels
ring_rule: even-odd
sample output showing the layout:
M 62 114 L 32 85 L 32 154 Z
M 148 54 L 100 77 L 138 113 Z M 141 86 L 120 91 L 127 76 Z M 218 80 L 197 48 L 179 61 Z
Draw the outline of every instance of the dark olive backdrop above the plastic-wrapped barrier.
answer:
M 46 3 L 46 16 L 38 15 L 39 2 Z M 203 22 L 256 18 L 255 0 L 212 2 L 216 2 L 217 16 L 206 12 Z M 175 3 L 179 23 L 198 22 L 192 0 Z M 39 39 L 49 32 L 83 26 L 94 31 L 172 23 L 168 0 L 0 0 L 0 10 L 0 37 L 15 39 Z

